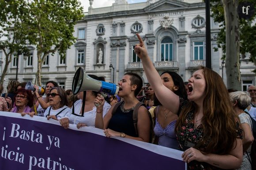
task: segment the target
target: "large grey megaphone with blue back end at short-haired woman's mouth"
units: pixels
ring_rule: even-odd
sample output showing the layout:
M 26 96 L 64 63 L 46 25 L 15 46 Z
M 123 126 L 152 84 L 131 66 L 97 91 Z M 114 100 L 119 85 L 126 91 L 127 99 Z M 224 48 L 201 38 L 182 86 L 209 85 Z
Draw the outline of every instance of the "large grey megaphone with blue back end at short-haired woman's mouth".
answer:
M 72 91 L 76 95 L 78 92 L 87 90 L 104 92 L 110 95 L 117 95 L 119 87 L 113 83 L 90 78 L 86 74 L 85 70 L 79 67 L 79 69 L 75 72 L 75 76 L 73 78 Z

